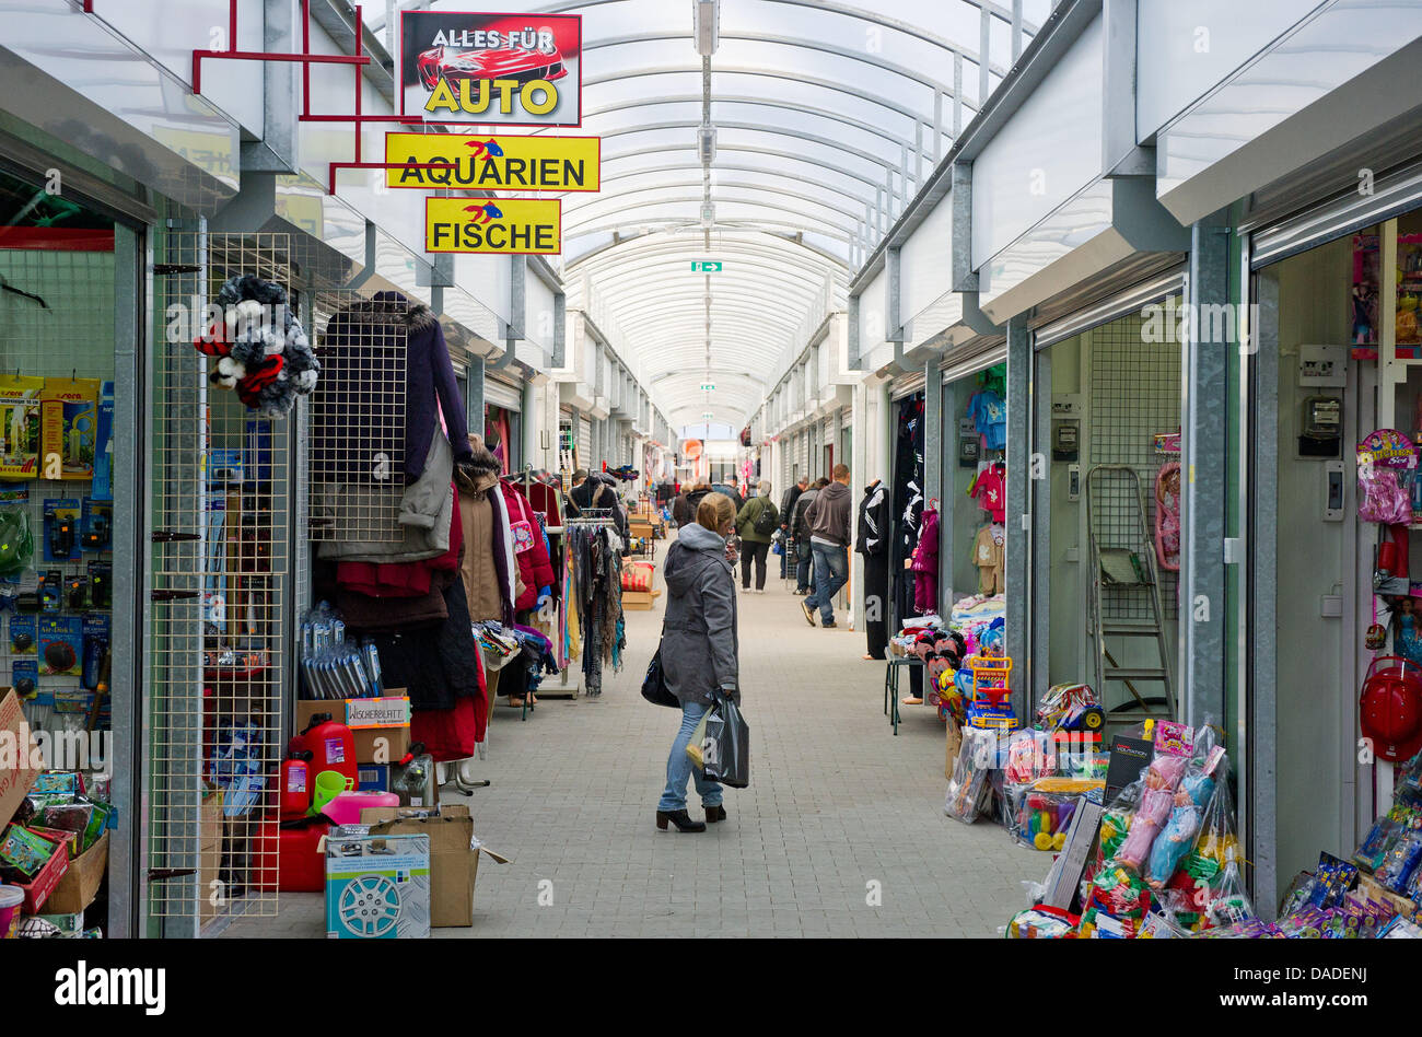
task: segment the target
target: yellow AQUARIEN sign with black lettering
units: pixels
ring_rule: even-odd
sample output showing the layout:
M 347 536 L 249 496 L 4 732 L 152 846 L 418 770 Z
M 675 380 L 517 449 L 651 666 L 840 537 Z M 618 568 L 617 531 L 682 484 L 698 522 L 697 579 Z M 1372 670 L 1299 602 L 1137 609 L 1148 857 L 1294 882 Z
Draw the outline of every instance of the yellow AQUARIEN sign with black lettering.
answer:
M 483 191 L 600 191 L 603 151 L 597 137 L 469 137 L 385 134 L 392 188 Z M 431 164 L 451 169 L 421 169 Z

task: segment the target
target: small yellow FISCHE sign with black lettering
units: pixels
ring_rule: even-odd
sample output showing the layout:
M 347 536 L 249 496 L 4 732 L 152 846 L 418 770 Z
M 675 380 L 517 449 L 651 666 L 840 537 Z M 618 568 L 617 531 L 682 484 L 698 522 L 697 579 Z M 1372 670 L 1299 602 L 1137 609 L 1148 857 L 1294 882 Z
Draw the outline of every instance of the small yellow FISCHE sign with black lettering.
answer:
M 425 252 L 553 255 L 563 203 L 547 198 L 427 198 Z

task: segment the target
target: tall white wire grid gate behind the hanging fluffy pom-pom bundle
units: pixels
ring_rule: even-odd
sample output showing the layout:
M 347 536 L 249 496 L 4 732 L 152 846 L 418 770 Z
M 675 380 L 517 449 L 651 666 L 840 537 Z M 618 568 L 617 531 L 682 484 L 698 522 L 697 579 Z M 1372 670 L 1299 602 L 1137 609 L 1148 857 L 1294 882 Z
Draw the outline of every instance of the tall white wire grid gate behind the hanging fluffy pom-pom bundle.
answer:
M 228 277 L 292 284 L 290 239 L 169 228 L 154 273 L 165 321 L 152 387 L 149 915 L 274 915 L 292 425 L 212 385 L 193 341 Z

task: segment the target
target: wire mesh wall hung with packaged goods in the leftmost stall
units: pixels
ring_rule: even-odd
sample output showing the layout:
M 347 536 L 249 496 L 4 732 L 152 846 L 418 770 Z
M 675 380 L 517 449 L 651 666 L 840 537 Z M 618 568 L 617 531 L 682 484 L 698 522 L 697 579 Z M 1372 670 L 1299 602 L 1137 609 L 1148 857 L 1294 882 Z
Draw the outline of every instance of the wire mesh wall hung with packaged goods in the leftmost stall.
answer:
M 33 563 L 0 587 L 14 606 L 0 639 L 0 686 L 30 681 L 30 727 L 47 731 L 55 750 L 82 748 L 100 770 L 102 743 L 80 735 L 108 728 L 102 703 L 92 701 L 101 659 L 85 666 L 85 657 L 91 642 L 102 640 L 100 652 L 108 642 L 112 502 L 92 501 L 94 418 L 77 418 L 61 432 L 55 464 L 41 442 L 40 414 L 54 405 L 41 397 L 84 397 L 98 405 L 102 383 L 112 385 L 114 252 L 0 248 L 0 283 L 10 289 L 0 292 L 0 378 L 9 404 L 0 421 L 7 469 L 0 501 L 7 514 L 24 511 L 34 539 Z M 20 398 L 33 404 L 17 405 Z M 30 471 L 16 474 L 28 457 L 36 458 Z M 82 754 L 55 755 L 61 767 L 85 762 Z

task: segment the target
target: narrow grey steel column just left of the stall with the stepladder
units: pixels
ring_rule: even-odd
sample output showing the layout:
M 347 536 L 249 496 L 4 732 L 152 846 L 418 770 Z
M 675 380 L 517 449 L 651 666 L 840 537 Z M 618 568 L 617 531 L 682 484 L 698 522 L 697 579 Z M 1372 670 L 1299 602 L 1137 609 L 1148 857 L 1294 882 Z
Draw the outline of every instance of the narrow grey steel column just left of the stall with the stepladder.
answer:
M 1003 575 L 1007 595 L 1007 656 L 1014 663 L 1012 707 L 1025 716 L 1032 679 L 1028 656 L 1031 622 L 1031 380 L 1032 337 L 1027 319 L 1007 323 L 1007 543 Z

